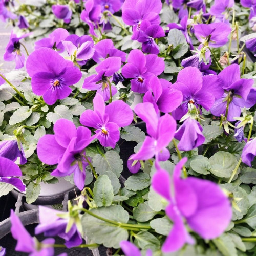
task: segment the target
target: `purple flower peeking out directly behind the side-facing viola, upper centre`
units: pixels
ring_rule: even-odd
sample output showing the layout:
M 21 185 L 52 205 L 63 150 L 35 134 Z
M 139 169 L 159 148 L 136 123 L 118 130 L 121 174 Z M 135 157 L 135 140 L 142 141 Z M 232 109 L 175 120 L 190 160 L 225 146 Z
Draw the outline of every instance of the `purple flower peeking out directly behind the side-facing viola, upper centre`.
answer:
M 126 53 L 122 52 L 114 47 L 114 43 L 110 39 L 104 39 L 99 41 L 95 46 L 95 53 L 93 60 L 97 63 L 102 62 L 104 59 L 109 57 L 120 57 L 121 62 L 126 61 Z

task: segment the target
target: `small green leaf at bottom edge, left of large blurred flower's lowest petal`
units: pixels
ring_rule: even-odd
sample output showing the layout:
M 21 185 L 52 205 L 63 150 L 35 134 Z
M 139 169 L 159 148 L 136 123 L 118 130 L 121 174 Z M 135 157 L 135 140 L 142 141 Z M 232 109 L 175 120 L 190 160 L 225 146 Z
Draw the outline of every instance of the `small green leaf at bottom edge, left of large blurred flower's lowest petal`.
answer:
M 153 249 L 160 248 L 160 241 L 152 233 L 147 231 L 140 231 L 133 235 L 135 237 L 135 244 L 141 249 Z

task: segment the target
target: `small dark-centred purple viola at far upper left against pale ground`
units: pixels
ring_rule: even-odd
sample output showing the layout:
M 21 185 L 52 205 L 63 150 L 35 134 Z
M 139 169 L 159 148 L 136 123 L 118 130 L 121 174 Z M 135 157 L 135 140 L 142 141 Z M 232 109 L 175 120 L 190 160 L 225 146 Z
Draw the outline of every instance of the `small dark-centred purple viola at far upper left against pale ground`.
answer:
M 8 42 L 8 45 L 5 48 L 4 60 L 5 61 L 15 60 L 16 69 L 20 69 L 24 66 L 25 55 L 20 51 L 21 44 L 19 40 L 27 36 L 28 34 L 17 37 L 16 34 L 11 32 L 10 41 Z

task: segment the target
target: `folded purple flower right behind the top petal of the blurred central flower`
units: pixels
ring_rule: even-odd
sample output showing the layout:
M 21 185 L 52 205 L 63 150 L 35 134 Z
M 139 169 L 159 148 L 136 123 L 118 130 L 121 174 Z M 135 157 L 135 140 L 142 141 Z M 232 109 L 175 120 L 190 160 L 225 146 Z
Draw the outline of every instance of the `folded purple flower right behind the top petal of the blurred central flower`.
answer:
M 153 76 L 148 85 L 148 91 L 143 97 L 143 102 L 154 105 L 156 112 L 163 113 L 174 111 L 182 102 L 182 93 L 172 88 L 172 83 Z

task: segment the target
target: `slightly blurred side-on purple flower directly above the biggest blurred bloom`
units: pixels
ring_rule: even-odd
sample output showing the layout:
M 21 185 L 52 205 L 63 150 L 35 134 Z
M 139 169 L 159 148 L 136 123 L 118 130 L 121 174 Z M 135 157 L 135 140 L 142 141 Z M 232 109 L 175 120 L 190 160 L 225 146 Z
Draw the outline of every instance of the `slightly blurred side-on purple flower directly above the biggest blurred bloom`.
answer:
M 135 113 L 146 123 L 147 134 L 138 153 L 132 155 L 133 160 L 148 160 L 155 156 L 156 161 L 166 161 L 170 157 L 167 146 L 174 138 L 176 121 L 169 114 L 159 116 L 154 105 L 146 102 L 135 107 Z

